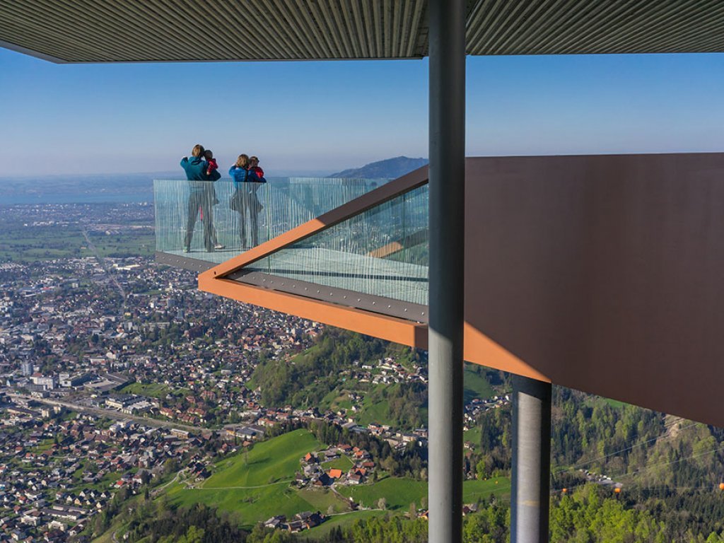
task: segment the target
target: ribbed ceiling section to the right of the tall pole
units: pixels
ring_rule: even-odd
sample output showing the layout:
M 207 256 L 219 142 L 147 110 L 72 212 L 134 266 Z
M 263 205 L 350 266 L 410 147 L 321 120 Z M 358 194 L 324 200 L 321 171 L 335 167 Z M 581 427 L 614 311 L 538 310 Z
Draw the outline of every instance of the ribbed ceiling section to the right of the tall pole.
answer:
M 472 55 L 724 51 L 720 0 L 480 0 L 468 14 Z

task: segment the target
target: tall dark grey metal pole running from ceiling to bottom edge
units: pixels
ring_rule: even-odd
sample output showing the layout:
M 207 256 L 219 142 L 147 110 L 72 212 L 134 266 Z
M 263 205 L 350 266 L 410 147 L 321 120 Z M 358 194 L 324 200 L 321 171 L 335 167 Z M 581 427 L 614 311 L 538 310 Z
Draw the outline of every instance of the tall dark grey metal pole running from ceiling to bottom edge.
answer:
M 429 542 L 463 528 L 466 1 L 430 0 Z

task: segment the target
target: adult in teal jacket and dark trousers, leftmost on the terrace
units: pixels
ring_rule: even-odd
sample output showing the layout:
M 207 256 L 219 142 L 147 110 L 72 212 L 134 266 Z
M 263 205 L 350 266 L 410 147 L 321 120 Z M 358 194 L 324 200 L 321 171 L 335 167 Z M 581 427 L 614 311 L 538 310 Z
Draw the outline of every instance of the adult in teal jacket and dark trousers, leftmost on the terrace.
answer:
M 184 238 L 183 250 L 185 253 L 191 251 L 191 240 L 193 229 L 196 226 L 196 218 L 201 211 L 203 220 L 203 246 L 207 253 L 214 252 L 215 230 L 214 230 L 214 180 L 206 174 L 209 169 L 209 162 L 203 158 L 203 146 L 195 145 L 191 150 L 191 157 L 184 156 L 181 159 L 181 167 L 186 172 L 188 180 L 188 218 L 186 220 L 186 236 Z M 221 177 L 219 172 L 214 171 L 216 176 Z M 218 179 L 218 177 L 216 177 Z

